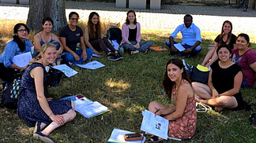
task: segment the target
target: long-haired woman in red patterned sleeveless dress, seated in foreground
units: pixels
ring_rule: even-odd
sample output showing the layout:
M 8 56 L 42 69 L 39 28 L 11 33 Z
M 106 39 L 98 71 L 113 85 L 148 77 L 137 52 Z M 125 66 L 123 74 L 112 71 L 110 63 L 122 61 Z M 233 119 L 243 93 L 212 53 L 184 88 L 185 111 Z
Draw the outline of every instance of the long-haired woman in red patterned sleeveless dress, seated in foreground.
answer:
M 149 103 L 149 111 L 169 120 L 169 137 L 183 140 L 192 138 L 197 122 L 196 101 L 183 61 L 179 59 L 168 61 L 163 86 L 165 93 L 171 99 L 171 106 L 152 101 Z M 158 140 L 160 138 L 153 136 L 148 142 Z

